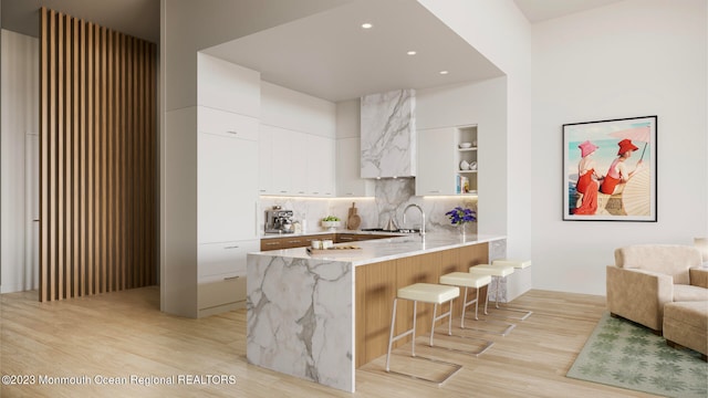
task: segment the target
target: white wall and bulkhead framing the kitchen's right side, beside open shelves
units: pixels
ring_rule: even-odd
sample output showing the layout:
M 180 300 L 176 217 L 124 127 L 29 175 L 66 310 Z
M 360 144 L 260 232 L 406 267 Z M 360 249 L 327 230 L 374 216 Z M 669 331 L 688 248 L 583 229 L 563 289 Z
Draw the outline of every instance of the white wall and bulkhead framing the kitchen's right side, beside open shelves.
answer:
M 507 75 L 507 130 L 494 143 L 498 181 L 494 211 L 506 217 L 509 256 L 531 256 L 531 31 L 512 0 L 418 0 Z M 481 171 L 481 170 L 480 170 Z M 481 199 L 480 199 L 481 200 Z M 503 209 L 502 209 L 503 208 Z M 498 231 L 502 232 L 502 231 Z M 535 264 L 535 260 L 534 260 Z

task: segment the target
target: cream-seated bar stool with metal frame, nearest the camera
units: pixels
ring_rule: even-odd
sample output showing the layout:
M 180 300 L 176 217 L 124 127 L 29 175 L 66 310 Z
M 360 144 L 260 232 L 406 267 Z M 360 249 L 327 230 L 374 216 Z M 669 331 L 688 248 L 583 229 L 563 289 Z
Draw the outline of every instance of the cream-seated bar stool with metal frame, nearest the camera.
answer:
M 388 335 L 388 352 L 386 354 L 386 371 L 391 373 L 391 348 L 393 347 L 393 343 L 406 337 L 408 335 L 413 335 L 413 341 L 410 343 L 410 356 L 416 356 L 416 318 L 417 318 L 417 305 L 418 302 L 430 303 L 434 304 L 433 307 L 433 325 L 430 326 L 430 347 L 433 347 L 433 337 L 435 334 L 435 323 L 439 320 L 448 317 L 448 335 L 452 334 L 452 300 L 459 297 L 460 289 L 457 286 L 444 286 L 434 283 L 415 283 L 405 287 L 398 289 L 396 297 L 394 298 L 394 310 L 391 316 L 391 333 Z M 398 300 L 410 300 L 413 301 L 413 327 L 403 332 L 398 335 L 394 336 L 394 329 L 396 325 L 396 306 L 398 304 Z M 437 315 L 438 304 L 442 304 L 445 302 L 450 303 L 449 311 Z M 459 369 L 462 368 L 461 365 L 451 364 L 442 360 L 437 360 L 433 358 L 418 357 L 421 359 L 446 364 L 452 367 L 452 370 L 442 377 L 440 380 L 428 379 L 425 377 L 418 377 L 412 374 L 405 374 L 400 371 L 393 371 L 399 375 L 408 376 L 416 379 L 423 379 L 426 381 L 437 383 L 438 385 L 447 381 L 452 375 L 455 375 Z

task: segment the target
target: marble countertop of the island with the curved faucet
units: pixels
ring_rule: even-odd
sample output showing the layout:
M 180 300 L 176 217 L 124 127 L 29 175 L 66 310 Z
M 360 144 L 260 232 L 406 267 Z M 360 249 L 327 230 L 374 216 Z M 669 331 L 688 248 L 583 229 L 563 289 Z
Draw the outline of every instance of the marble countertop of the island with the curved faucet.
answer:
M 327 232 L 322 232 L 327 233 Z M 360 232 L 362 233 L 362 232 Z M 364 232 L 365 233 L 365 232 Z M 376 232 L 377 234 L 381 232 Z M 312 233 L 304 233 L 312 234 Z M 290 234 L 289 234 L 290 235 Z M 356 251 L 333 251 L 330 254 L 309 254 L 306 248 L 269 250 L 253 252 L 254 255 L 282 256 L 290 259 L 316 259 L 329 261 L 351 262 L 353 265 L 364 265 L 381 261 L 396 260 L 410 255 L 418 255 L 440 250 L 460 248 L 504 239 L 502 235 L 468 234 L 465 240 L 457 233 L 428 233 L 421 239 L 417 233 L 376 240 L 337 243 L 335 247 L 356 247 Z

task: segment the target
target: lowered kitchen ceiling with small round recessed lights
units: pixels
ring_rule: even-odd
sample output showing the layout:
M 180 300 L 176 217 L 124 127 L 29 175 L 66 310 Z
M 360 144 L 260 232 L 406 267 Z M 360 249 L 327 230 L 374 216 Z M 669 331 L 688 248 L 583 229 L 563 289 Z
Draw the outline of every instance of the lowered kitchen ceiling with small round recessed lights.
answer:
M 364 22 L 373 28 L 362 29 Z M 407 54 L 412 50 L 416 55 Z M 503 75 L 409 0 L 354 1 L 205 52 L 259 71 L 264 81 L 332 102 Z

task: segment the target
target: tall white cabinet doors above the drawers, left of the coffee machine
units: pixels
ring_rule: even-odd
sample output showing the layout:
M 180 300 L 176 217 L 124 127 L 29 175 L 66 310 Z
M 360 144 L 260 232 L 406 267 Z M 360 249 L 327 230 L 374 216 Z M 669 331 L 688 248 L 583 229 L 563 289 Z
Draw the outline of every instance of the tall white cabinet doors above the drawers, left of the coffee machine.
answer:
M 206 54 L 197 66 L 198 242 L 256 239 L 260 75 Z

